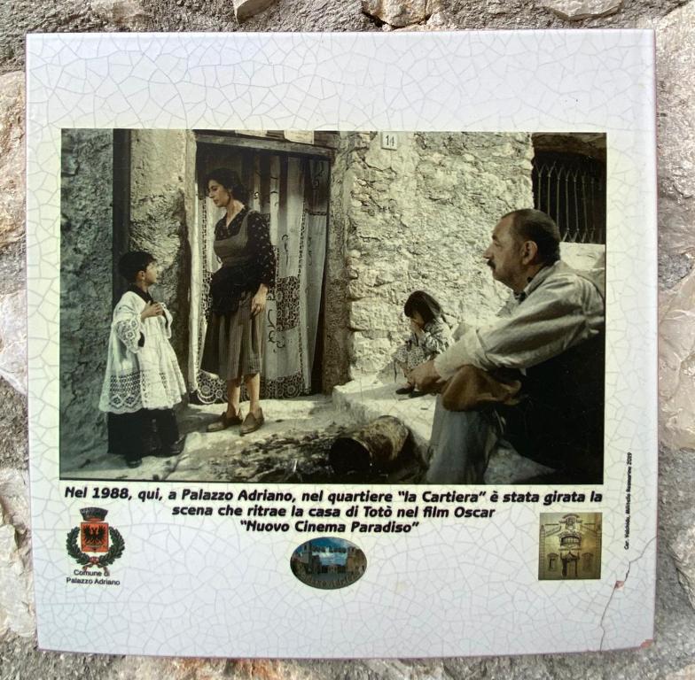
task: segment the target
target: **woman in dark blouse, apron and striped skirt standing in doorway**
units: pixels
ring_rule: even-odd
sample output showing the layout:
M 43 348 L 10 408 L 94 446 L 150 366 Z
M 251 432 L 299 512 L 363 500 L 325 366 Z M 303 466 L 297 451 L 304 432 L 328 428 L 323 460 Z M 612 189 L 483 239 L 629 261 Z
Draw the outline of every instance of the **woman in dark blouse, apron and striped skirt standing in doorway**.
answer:
M 263 310 L 275 279 L 275 252 L 267 221 L 249 210 L 248 193 L 238 174 L 220 168 L 207 176 L 207 195 L 226 210 L 215 225 L 215 255 L 222 267 L 210 282 L 210 317 L 200 367 L 227 382 L 227 410 L 207 426 L 218 432 L 241 425 L 242 435 L 264 421 L 260 404 Z M 242 420 L 241 382 L 249 398 Z

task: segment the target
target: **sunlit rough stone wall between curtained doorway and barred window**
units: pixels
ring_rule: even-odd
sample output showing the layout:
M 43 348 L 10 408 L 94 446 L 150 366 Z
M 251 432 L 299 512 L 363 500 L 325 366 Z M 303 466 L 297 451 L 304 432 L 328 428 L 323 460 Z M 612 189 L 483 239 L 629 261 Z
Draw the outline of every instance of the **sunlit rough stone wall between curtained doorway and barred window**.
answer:
M 439 300 L 454 326 L 496 312 L 505 289 L 482 252 L 501 215 L 533 205 L 530 135 L 396 138 L 384 149 L 378 133 L 341 136 L 326 299 L 347 313 L 326 325 L 327 387 L 388 367 L 409 332 L 402 306 L 413 290 Z

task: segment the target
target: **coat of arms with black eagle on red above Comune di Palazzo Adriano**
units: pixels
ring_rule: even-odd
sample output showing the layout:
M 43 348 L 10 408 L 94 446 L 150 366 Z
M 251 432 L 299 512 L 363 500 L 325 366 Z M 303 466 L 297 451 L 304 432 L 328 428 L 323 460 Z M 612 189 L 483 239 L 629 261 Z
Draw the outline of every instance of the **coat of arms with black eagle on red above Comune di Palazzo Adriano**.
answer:
M 104 576 L 108 576 L 108 566 L 118 560 L 125 549 L 121 532 L 104 522 L 108 510 L 101 507 L 84 507 L 80 514 L 84 522 L 68 532 L 67 554 L 82 568 L 104 569 Z

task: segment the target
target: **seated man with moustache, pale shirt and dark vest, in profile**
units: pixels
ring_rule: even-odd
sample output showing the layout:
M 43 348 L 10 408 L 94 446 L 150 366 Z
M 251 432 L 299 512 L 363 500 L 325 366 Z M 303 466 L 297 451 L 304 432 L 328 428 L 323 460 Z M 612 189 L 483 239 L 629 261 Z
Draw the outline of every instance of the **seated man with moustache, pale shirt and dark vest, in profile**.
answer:
M 496 322 L 467 330 L 412 371 L 411 382 L 430 391 L 461 367 L 485 371 L 491 382 L 498 371 L 511 370 L 520 382 L 518 399 L 507 404 L 448 411 L 437 398 L 427 482 L 481 483 L 499 436 L 521 455 L 554 468 L 547 482 L 602 481 L 603 285 L 562 262 L 559 241 L 558 227 L 545 213 L 504 215 L 483 257 L 496 281 L 511 288 L 509 302 Z

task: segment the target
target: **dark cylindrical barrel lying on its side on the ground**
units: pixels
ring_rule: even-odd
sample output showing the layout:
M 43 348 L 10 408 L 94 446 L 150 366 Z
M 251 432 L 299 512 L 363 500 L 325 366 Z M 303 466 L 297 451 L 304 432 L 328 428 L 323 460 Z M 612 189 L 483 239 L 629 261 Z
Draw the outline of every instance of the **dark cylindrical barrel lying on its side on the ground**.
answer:
M 367 472 L 371 468 L 394 468 L 410 430 L 398 418 L 382 415 L 338 437 L 328 453 L 328 460 L 336 473 Z

